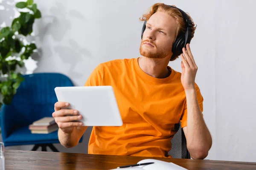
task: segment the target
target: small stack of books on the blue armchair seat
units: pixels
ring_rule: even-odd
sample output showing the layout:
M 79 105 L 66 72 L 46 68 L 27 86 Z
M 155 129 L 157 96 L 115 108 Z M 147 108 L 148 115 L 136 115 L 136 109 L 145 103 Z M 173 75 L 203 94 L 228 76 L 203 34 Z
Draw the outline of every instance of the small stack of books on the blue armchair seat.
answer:
M 58 125 L 55 123 L 53 117 L 44 117 L 29 125 L 29 130 L 31 130 L 31 133 L 47 134 L 58 130 Z

